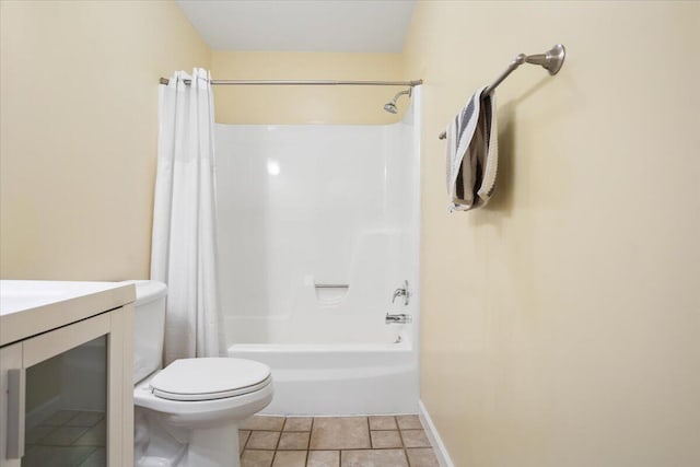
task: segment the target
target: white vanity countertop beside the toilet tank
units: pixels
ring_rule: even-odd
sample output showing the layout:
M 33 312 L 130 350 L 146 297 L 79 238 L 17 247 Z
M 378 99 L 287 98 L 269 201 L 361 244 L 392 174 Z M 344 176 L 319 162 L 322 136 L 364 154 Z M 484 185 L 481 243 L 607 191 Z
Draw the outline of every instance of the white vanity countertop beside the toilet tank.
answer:
M 0 346 L 135 300 L 131 283 L 0 280 Z

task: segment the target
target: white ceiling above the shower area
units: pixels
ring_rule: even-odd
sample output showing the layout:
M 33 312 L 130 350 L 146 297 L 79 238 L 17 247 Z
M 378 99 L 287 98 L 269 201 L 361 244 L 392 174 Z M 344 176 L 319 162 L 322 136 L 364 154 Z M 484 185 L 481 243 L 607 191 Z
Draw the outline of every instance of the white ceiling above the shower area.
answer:
M 416 0 L 176 0 L 214 50 L 400 52 Z

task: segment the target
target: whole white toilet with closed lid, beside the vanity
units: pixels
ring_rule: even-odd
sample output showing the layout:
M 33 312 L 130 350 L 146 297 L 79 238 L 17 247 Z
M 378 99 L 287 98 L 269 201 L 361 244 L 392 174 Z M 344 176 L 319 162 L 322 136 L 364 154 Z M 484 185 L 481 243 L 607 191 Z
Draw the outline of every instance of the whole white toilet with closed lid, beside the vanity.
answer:
M 167 288 L 130 282 L 136 285 L 133 465 L 240 467 L 238 424 L 272 400 L 269 366 L 200 358 L 162 369 Z

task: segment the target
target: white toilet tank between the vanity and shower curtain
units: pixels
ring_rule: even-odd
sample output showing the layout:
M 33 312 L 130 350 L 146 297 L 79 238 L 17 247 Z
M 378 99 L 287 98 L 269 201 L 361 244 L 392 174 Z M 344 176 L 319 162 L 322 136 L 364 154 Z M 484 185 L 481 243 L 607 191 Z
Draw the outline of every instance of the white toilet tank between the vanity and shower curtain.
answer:
M 162 366 L 167 287 L 152 280 L 127 281 L 136 285 L 133 303 L 133 384 Z

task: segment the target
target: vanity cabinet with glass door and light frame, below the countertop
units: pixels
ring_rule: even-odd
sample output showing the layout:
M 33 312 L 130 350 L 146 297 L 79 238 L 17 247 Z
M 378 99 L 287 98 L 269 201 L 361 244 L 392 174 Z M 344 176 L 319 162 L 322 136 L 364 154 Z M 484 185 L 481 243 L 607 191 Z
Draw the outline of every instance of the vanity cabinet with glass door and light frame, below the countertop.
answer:
M 0 347 L 0 467 L 132 466 L 133 305 L 83 315 Z

